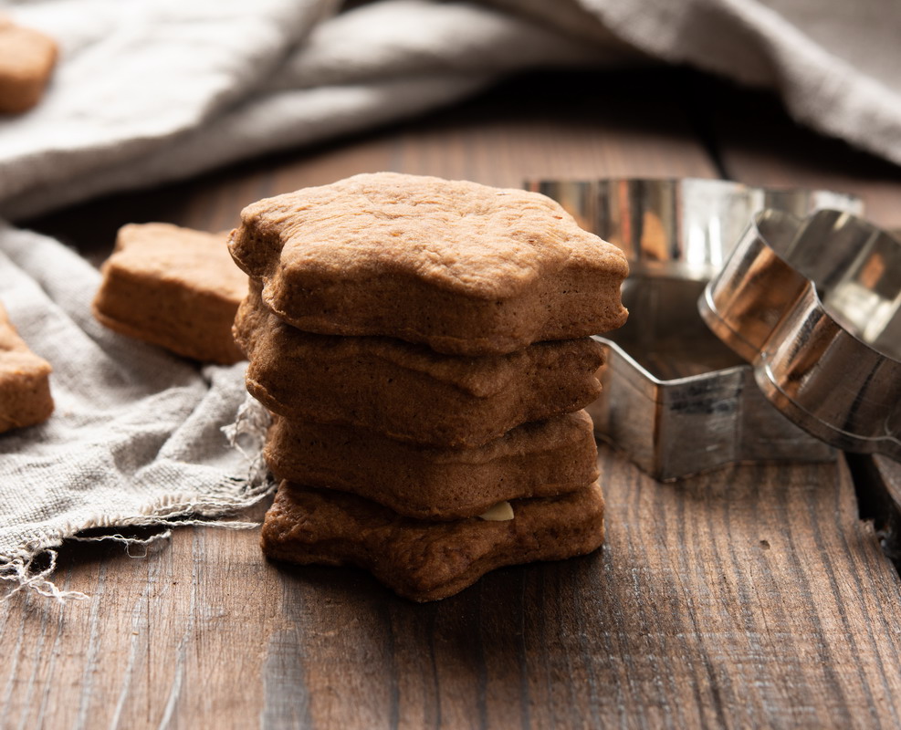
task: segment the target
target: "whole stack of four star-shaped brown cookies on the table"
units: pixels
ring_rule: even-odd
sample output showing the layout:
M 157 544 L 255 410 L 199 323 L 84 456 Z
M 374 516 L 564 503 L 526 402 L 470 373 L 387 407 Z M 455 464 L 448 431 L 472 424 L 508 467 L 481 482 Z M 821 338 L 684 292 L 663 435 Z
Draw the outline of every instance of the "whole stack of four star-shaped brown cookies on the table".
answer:
M 248 206 L 235 334 L 273 413 L 271 558 L 413 600 L 603 540 L 592 422 L 613 245 L 537 193 L 394 173 Z

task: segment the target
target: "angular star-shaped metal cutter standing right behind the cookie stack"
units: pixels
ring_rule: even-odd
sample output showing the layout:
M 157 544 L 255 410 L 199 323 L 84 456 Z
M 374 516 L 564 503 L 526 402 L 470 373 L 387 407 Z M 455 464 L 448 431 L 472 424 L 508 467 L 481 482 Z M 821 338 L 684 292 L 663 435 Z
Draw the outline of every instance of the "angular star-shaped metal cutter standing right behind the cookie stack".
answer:
M 626 325 L 607 350 L 595 434 L 657 479 L 735 462 L 828 461 L 834 452 L 770 406 L 754 371 L 697 315 L 704 282 L 628 279 Z

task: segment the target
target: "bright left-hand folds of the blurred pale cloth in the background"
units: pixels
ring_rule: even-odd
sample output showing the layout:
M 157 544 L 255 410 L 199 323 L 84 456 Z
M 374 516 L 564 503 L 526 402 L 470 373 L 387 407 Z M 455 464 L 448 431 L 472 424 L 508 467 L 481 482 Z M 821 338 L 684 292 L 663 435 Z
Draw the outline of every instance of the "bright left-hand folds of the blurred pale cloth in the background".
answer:
M 467 3 L 388 0 L 317 26 L 336 7 L 334 0 L 8 7 L 17 22 L 58 38 L 62 54 L 47 98 L 0 120 L 0 214 L 18 219 L 371 127 L 460 99 L 504 71 L 612 55 Z

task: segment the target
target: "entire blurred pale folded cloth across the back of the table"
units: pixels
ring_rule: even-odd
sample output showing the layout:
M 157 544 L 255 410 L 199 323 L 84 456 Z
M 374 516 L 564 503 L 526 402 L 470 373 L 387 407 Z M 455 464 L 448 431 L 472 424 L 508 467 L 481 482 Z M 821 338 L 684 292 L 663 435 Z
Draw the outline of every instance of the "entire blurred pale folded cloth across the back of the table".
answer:
M 381 0 L 337 16 L 336 0 L 0 0 L 4 10 L 62 50 L 46 99 L 0 120 L 9 219 L 550 66 L 702 68 L 774 89 L 797 120 L 901 162 L 901 12 L 880 0 Z

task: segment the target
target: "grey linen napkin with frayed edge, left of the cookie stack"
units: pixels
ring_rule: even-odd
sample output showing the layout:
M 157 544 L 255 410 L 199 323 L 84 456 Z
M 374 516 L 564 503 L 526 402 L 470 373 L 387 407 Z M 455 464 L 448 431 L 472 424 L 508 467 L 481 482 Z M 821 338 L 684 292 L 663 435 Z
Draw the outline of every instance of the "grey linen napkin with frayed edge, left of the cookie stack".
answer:
M 104 328 L 90 312 L 99 284 L 65 246 L 0 224 L 0 301 L 52 365 L 56 401 L 46 423 L 0 434 L 0 579 L 14 591 L 64 597 L 32 558 L 80 530 L 204 521 L 267 492 L 222 432 L 245 402 L 245 364 L 201 370 Z

